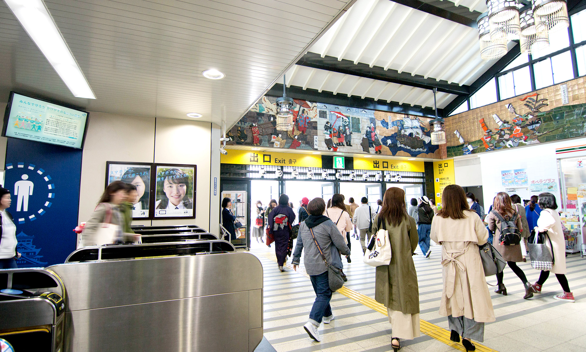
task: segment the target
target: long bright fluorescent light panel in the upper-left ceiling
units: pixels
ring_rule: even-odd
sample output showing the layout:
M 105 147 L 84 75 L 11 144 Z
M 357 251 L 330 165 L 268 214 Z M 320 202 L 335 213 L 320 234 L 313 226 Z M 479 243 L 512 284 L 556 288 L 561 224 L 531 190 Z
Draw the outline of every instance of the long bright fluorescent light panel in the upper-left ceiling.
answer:
M 4 0 L 57 75 L 78 98 L 96 99 L 42 0 Z

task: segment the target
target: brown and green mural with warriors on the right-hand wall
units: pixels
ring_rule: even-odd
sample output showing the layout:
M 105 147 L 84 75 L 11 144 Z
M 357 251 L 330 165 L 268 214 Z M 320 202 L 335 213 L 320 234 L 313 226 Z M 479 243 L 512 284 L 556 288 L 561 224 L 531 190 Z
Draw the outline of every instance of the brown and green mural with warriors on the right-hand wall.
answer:
M 447 157 L 584 136 L 583 81 L 580 77 L 448 117 Z

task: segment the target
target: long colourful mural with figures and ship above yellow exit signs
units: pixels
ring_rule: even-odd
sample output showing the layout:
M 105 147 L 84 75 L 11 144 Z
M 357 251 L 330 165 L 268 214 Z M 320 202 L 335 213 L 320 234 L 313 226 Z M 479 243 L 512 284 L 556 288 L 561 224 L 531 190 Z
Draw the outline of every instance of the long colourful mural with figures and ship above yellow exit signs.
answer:
M 227 144 L 439 158 L 428 117 L 294 100 L 294 127 L 275 128 L 276 97 L 264 96 L 227 133 Z

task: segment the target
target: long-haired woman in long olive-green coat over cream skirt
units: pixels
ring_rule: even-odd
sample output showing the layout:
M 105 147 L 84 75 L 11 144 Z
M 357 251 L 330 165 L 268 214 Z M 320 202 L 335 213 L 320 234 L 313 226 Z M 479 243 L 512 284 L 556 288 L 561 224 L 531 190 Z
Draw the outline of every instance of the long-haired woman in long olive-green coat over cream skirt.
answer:
M 393 328 L 391 347 L 397 351 L 401 348 L 399 339 L 420 336 L 419 286 L 412 258 L 419 237 L 415 220 L 407 215 L 403 189 L 391 187 L 384 192 L 383 199 L 383 207 L 374 216 L 372 233 L 383 228 L 384 221 L 392 256 L 389 265 L 376 267 L 374 299 L 387 307 Z

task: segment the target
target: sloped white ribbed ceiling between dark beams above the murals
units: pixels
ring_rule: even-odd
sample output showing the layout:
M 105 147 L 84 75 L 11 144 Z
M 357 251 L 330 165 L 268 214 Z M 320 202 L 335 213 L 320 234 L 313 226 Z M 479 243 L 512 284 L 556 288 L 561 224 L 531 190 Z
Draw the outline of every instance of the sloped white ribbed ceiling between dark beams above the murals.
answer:
M 454 4 L 473 6 L 473 10 L 480 12 L 486 11 L 486 5 L 482 1 L 456 0 Z M 510 42 L 509 49 L 513 45 Z M 471 84 L 496 62 L 481 59 L 476 29 L 389 0 L 357 0 L 315 42 L 309 52 L 461 85 Z M 311 69 L 290 69 L 287 74 L 292 75 L 289 82 L 298 86 L 297 77 L 302 76 L 301 80 L 307 79 L 308 70 Z M 304 82 L 300 86 L 304 89 L 336 91 L 433 107 L 430 90 L 411 89 L 394 83 L 387 85 L 386 82 L 363 83 L 372 81 L 369 79 L 362 79 L 363 82 L 356 84 L 357 77 L 345 77 L 346 75 L 339 73 L 331 75 L 328 82 L 323 82 L 320 77 L 325 75 L 326 73 L 316 74 L 311 82 Z M 366 90 L 364 85 L 371 84 L 368 92 L 362 92 Z M 438 107 L 445 107 L 454 97 L 454 94 L 438 93 Z

